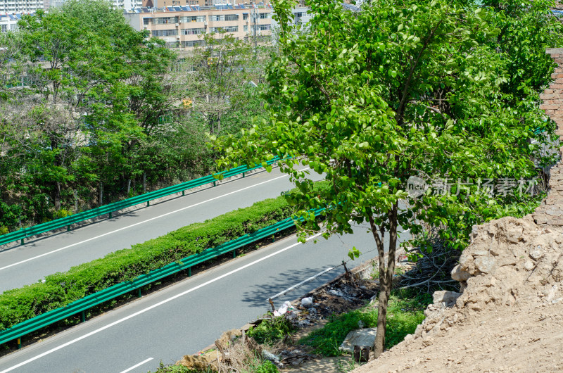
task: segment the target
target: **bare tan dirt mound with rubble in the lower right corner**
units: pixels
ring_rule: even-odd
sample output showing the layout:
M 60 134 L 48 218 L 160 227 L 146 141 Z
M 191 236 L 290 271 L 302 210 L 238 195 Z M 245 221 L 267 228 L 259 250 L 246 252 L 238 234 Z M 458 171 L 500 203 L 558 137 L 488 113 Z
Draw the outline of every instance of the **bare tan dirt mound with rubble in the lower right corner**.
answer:
M 474 227 L 415 334 L 354 372 L 563 372 L 563 228 L 531 215 Z

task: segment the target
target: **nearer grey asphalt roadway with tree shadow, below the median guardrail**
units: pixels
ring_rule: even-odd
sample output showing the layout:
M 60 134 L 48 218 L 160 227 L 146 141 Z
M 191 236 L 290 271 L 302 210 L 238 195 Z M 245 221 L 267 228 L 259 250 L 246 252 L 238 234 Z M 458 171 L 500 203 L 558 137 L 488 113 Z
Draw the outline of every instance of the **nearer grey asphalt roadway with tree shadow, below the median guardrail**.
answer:
M 374 257 L 374 239 L 366 230 L 356 227 L 355 234 L 329 240 L 318 237 L 316 244 L 312 239 L 298 244 L 295 236 L 277 241 L 7 355 L 0 359 L 0 373 L 155 370 L 160 361 L 170 364 L 195 353 L 222 331 L 261 315 L 269 308 L 267 298 L 339 265 L 352 246 L 363 254 L 349 267 Z M 409 238 L 401 234 L 400 241 Z M 276 305 L 342 271 L 338 267 L 323 274 L 277 298 Z

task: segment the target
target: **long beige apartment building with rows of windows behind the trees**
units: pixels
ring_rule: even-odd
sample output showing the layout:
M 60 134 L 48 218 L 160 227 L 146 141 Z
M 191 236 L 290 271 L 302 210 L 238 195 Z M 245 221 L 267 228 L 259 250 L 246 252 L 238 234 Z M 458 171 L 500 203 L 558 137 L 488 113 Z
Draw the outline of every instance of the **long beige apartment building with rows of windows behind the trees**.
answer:
M 270 38 L 272 12 L 269 4 L 184 5 L 135 8 L 125 13 L 125 18 L 135 30 L 149 30 L 151 36 L 163 39 L 171 48 L 190 49 L 203 44 L 203 34 L 220 31 L 236 39 L 254 35 Z

